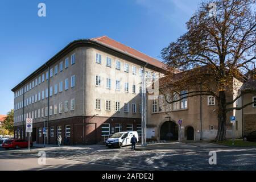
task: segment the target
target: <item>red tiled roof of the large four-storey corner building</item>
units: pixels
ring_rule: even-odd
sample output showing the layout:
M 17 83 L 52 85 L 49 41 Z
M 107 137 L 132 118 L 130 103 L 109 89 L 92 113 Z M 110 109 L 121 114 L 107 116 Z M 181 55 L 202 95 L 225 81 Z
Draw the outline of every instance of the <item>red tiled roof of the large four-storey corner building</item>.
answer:
M 100 36 L 98 38 L 92 38 L 90 40 L 96 41 L 98 43 L 106 44 L 110 47 L 118 49 L 119 51 L 122 51 L 124 53 L 129 53 L 130 55 L 138 57 L 139 59 L 144 60 L 145 63 L 147 62 L 148 64 L 154 65 L 155 67 L 163 68 L 163 63 L 161 61 L 154 59 L 150 56 L 147 56 L 144 53 L 139 52 L 133 48 L 125 46 L 124 44 L 119 43 L 113 39 L 110 39 L 108 36 Z

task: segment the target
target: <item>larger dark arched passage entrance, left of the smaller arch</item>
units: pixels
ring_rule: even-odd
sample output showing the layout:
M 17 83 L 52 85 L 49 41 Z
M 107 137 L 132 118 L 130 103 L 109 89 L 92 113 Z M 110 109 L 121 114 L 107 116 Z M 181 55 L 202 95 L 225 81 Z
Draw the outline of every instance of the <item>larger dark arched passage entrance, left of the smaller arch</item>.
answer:
M 160 140 L 177 140 L 178 127 L 175 122 L 166 121 L 160 129 Z

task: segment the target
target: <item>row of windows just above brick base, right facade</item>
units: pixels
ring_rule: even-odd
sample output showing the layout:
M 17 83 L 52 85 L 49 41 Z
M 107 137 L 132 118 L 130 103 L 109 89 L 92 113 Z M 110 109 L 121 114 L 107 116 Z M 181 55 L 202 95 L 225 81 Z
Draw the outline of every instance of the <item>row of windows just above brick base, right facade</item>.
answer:
M 95 100 L 95 109 L 96 110 L 101 110 L 101 105 L 102 105 L 102 102 L 101 102 L 101 99 L 100 98 L 96 98 Z M 119 112 L 120 111 L 120 102 L 119 101 L 115 101 L 114 102 L 114 108 L 115 108 L 115 111 Z M 141 107 L 141 104 L 139 104 L 139 113 L 142 112 L 142 107 Z M 110 100 L 106 100 L 105 101 L 105 110 L 108 110 L 108 111 L 111 111 L 112 110 L 112 102 Z M 129 103 L 123 103 L 123 111 L 125 113 L 129 113 Z M 132 113 L 137 113 L 137 104 L 131 104 L 131 112 Z

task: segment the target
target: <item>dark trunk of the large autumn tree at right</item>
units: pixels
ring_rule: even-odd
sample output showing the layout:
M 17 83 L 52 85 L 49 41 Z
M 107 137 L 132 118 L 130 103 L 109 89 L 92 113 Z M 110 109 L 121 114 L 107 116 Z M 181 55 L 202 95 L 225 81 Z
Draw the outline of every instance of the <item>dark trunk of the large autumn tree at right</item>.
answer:
M 218 133 L 216 136 L 217 141 L 226 139 L 226 93 L 225 91 L 219 92 L 218 99 Z

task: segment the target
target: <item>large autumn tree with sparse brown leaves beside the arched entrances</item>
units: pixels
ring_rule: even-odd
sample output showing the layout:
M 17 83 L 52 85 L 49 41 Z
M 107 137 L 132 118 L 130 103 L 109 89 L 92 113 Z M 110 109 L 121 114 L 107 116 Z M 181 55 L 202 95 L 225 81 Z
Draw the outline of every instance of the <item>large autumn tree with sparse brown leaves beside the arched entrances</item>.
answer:
M 241 96 L 226 101 L 226 93 L 234 86 L 233 78 L 243 79 L 245 72 L 255 68 L 254 6 L 255 0 L 204 1 L 187 22 L 188 31 L 161 52 L 168 72 L 163 80 L 165 93 L 167 88 L 171 93 L 188 88 L 191 91 L 181 99 L 200 95 L 217 98 L 216 140 L 225 139 L 229 111 L 253 104 L 230 107 Z M 211 14 L 214 8 L 216 14 Z

